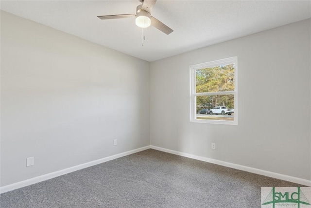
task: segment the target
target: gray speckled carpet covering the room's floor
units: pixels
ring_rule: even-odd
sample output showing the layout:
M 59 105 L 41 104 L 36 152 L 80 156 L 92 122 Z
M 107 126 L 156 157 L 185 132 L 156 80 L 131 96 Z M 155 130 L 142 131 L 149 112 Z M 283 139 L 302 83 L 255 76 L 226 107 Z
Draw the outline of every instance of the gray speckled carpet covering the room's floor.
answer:
M 146 150 L 0 195 L 1 208 L 260 208 L 294 183 Z

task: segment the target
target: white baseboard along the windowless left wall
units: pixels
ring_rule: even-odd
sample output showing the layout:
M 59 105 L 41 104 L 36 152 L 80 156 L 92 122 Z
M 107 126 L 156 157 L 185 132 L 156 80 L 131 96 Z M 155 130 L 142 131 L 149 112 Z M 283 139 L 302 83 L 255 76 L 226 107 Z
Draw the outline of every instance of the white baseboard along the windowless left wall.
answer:
M 98 159 L 98 160 L 94 160 L 94 161 L 91 161 L 91 162 L 88 162 L 88 163 L 77 165 L 77 166 L 74 166 L 74 167 L 71 167 L 71 168 L 67 168 L 67 169 L 63 169 L 63 170 L 58 170 L 58 171 L 51 172 L 51 173 L 48 173 L 48 174 L 45 174 L 45 175 L 40 175 L 40 176 L 37 176 L 35 178 L 31 178 L 31 179 L 28 179 L 28 180 L 25 180 L 25 181 L 20 181 L 20 182 L 14 183 L 14 184 L 10 184 L 10 185 L 7 185 L 7 186 L 0 187 L 0 193 L 4 193 L 4 192 L 10 191 L 10 190 L 26 187 L 26 186 L 29 186 L 29 185 L 32 185 L 32 184 L 35 184 L 35 183 L 39 183 L 39 182 L 42 182 L 42 181 L 49 180 L 51 178 L 55 178 L 55 177 L 60 176 L 60 175 L 67 174 L 69 172 L 73 172 L 73 171 L 76 171 L 76 170 L 81 170 L 81 169 L 84 169 L 84 168 L 88 168 L 88 167 L 91 167 L 91 166 L 94 166 L 94 165 L 98 165 L 98 164 L 107 162 L 109 160 L 114 160 L 114 159 L 117 159 L 119 157 L 124 157 L 126 155 L 134 154 L 136 152 L 144 151 L 144 150 L 148 150 L 148 149 L 150 149 L 150 146 L 138 148 L 138 149 L 131 150 L 131 151 L 122 152 L 122 153 L 115 154 L 115 155 L 112 155 L 112 156 L 104 157 L 102 159 Z

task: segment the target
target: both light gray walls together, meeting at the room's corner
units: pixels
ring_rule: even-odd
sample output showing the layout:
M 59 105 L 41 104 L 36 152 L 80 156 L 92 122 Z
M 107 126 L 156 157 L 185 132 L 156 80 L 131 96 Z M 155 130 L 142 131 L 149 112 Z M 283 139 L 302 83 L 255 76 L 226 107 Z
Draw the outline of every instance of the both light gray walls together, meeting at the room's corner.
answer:
M 148 63 L 1 12 L 0 186 L 150 144 L 310 180 L 310 23 Z M 233 56 L 239 124 L 190 123 L 189 66 Z

